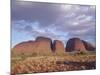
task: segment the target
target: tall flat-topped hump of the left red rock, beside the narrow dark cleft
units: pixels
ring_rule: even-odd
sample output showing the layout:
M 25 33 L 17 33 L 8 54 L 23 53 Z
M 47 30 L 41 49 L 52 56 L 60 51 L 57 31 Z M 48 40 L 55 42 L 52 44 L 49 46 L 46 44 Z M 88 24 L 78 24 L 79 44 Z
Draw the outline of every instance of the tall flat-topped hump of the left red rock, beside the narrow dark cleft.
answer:
M 37 37 L 36 38 L 36 43 L 37 43 L 37 51 L 46 54 L 46 53 L 51 53 L 51 44 L 52 40 L 50 38 L 45 38 L 45 37 Z

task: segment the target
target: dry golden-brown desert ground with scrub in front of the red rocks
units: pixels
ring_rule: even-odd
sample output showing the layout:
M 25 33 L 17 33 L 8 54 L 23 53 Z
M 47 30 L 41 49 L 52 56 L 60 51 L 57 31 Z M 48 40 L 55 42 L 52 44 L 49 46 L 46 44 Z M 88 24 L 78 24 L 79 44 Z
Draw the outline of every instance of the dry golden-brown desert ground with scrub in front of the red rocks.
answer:
M 92 51 L 11 57 L 12 75 L 90 69 L 96 69 L 96 53 Z

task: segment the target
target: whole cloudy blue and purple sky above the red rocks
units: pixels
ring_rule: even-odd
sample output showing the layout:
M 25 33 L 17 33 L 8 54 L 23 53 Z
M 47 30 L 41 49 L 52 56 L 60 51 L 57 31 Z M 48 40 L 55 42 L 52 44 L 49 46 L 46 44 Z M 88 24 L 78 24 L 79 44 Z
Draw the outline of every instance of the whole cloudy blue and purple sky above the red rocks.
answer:
M 37 36 L 63 43 L 78 37 L 95 45 L 95 6 L 12 0 L 12 46 Z

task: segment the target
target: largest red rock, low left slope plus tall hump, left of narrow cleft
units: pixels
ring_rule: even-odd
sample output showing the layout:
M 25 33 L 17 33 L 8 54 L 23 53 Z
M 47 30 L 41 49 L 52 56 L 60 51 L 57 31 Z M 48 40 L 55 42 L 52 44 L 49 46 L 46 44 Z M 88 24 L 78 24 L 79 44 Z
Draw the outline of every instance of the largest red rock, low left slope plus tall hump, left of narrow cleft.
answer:
M 26 41 L 17 44 L 13 51 L 16 54 L 38 54 L 45 55 L 52 52 L 51 50 L 52 40 L 45 37 L 37 37 L 35 41 Z

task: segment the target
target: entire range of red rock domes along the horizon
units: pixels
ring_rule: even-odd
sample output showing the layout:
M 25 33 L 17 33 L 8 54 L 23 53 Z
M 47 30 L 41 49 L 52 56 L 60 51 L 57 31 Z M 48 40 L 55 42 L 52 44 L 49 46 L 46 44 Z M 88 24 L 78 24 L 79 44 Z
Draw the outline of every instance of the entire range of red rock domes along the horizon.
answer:
M 17 44 L 12 49 L 15 54 L 32 54 L 38 55 L 49 55 L 50 53 L 64 53 L 65 48 L 61 41 L 52 40 L 45 37 L 37 37 L 35 41 L 26 41 Z M 94 51 L 95 47 L 86 41 L 80 40 L 79 38 L 69 39 L 66 44 L 66 51 Z

